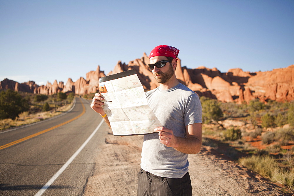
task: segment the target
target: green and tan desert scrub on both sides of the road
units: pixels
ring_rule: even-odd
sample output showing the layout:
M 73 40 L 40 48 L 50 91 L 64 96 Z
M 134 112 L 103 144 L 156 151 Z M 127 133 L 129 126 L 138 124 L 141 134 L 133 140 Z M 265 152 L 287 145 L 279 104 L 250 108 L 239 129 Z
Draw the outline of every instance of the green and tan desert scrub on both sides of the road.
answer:
M 59 115 L 72 107 L 74 96 L 62 92 L 43 95 L 0 91 L 0 131 Z M 200 99 L 204 145 L 294 189 L 294 102 L 265 104 L 256 99 L 236 104 Z

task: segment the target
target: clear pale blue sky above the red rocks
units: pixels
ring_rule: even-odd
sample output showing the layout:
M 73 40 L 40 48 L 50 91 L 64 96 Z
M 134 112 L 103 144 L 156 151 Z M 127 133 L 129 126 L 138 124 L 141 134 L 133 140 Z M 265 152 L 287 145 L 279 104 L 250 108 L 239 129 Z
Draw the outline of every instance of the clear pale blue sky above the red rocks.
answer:
M 118 60 L 180 49 L 182 66 L 294 64 L 293 0 L 0 0 L 0 81 L 66 83 Z

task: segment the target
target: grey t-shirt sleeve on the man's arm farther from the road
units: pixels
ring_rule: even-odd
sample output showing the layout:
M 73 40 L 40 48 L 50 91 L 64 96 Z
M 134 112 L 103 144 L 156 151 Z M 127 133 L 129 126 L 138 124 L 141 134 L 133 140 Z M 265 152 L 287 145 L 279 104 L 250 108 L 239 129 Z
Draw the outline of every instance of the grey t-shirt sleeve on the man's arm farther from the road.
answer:
M 202 107 L 198 94 L 191 94 L 184 104 L 185 126 L 194 123 L 202 123 Z

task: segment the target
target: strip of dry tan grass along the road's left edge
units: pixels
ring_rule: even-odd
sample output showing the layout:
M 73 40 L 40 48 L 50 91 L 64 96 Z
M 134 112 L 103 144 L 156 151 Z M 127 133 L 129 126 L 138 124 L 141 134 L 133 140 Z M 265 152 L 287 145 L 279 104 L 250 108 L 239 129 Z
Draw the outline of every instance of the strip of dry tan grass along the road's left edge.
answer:
M 19 117 L 16 118 L 15 120 L 12 120 L 12 119 L 0 120 L 0 131 L 4 129 L 9 129 L 11 127 L 23 126 L 23 125 L 35 123 L 41 120 L 49 119 L 51 117 L 62 114 L 65 111 L 68 111 L 73 106 L 73 104 L 74 102 L 71 102 L 71 104 L 67 104 L 62 107 L 59 107 L 57 111 L 53 109 L 50 111 L 38 112 L 34 114 L 29 114 L 29 112 L 23 112 L 19 114 Z

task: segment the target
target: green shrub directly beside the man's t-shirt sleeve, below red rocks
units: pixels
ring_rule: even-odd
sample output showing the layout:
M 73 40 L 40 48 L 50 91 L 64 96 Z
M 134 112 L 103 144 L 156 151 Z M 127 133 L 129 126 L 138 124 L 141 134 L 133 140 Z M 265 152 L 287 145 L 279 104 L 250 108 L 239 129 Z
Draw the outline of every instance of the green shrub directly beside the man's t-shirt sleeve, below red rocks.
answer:
M 202 121 L 205 124 L 211 121 L 218 121 L 223 117 L 223 111 L 220 109 L 220 103 L 214 99 L 201 97 L 202 104 Z

